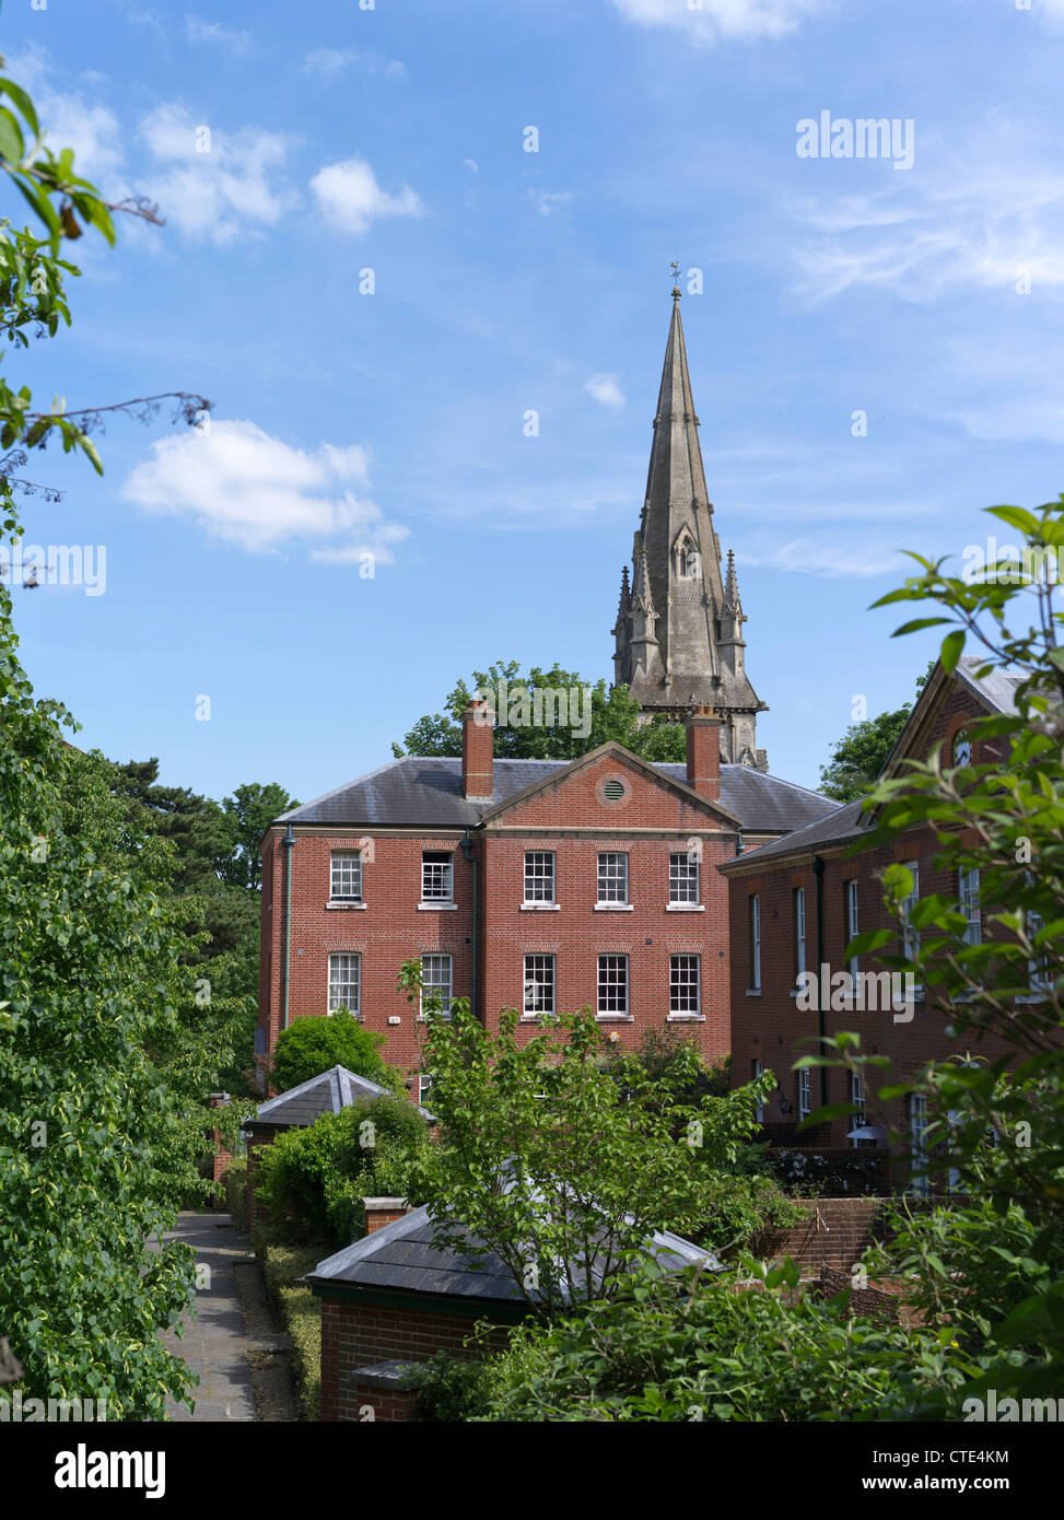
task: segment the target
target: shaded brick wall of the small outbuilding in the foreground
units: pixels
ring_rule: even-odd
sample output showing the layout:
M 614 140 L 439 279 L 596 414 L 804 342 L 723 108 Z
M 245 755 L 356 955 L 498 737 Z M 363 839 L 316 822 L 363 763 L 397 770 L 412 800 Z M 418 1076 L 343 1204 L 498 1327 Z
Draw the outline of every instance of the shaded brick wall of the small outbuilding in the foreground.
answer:
M 366 1403 L 375 1406 L 368 1389 L 359 1389 L 353 1373 L 378 1362 L 427 1362 L 436 1351 L 474 1362 L 509 1344 L 509 1327 L 496 1325 L 486 1344 L 473 1342 L 476 1321 L 468 1316 L 406 1307 L 362 1304 L 356 1300 L 321 1301 L 321 1418 L 327 1421 L 366 1421 Z M 470 1344 L 467 1344 L 470 1342 Z M 383 1389 L 378 1398 L 394 1397 Z M 382 1404 L 375 1420 L 409 1418 L 388 1412 Z

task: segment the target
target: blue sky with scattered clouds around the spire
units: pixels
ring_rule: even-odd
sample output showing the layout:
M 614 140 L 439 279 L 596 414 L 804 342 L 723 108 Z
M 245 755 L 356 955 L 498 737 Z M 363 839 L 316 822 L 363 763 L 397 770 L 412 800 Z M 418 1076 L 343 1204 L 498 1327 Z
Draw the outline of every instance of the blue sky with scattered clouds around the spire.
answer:
M 27 540 L 106 549 L 103 594 L 18 594 L 33 684 L 169 783 L 306 800 L 477 664 L 610 675 L 673 258 L 777 775 L 910 695 L 897 550 L 1064 489 L 1064 0 L 8 0 L 0 46 L 166 219 L 87 237 L 9 372 L 214 404 L 29 471 Z M 912 167 L 798 157 L 821 111 L 912 122 Z

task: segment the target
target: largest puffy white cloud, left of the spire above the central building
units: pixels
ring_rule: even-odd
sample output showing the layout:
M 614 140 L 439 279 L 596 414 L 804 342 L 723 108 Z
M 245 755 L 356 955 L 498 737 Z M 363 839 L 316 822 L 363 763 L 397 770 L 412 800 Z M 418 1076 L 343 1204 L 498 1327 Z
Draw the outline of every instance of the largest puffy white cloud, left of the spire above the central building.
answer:
M 211 421 L 152 444 L 122 488 L 147 512 L 187 517 L 252 553 L 286 543 L 312 558 L 357 559 L 369 550 L 391 564 L 391 546 L 409 529 L 385 520 L 368 496 L 368 451 L 322 445 L 315 453 L 271 438 L 254 423 Z M 342 538 L 342 544 L 324 543 Z

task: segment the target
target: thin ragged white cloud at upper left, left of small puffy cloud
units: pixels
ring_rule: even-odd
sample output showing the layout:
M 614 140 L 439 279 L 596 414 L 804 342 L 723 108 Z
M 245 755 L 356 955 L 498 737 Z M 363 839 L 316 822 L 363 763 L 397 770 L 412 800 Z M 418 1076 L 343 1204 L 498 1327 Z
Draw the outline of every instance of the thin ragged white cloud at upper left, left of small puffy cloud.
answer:
M 246 239 L 274 226 L 296 201 L 283 178 L 290 138 L 281 132 L 219 132 L 173 103 L 144 117 L 140 135 L 158 166 L 144 188 L 187 237 L 217 245 Z

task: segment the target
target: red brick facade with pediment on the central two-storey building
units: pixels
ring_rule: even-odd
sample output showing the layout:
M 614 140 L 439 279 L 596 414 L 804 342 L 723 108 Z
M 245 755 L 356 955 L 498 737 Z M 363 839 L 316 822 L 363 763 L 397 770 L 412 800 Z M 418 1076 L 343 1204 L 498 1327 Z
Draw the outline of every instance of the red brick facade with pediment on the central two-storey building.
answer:
M 603 801 L 606 777 L 623 775 L 625 798 Z M 283 830 L 263 847 L 260 1029 L 268 1050 L 281 1028 L 284 979 Z M 420 1069 L 416 1008 L 395 991 L 404 959 L 453 958 L 453 993 L 473 991 L 473 866 L 461 850 L 464 830 L 415 831 L 296 828 L 292 848 L 289 1017 L 328 1009 L 328 956 L 362 956 L 362 1018 L 385 1035 L 383 1056 L 404 1072 Z M 669 912 L 669 853 L 699 839 L 702 912 Z M 330 853 L 363 850 L 363 904 L 330 907 Z M 556 912 L 523 912 L 523 853 L 553 850 Z M 631 912 L 596 912 L 597 853 L 629 854 Z M 454 907 L 421 909 L 421 853 L 453 856 Z M 736 831 L 707 806 L 648 777 L 617 755 L 602 757 L 492 821 L 474 841 L 480 869 L 477 926 L 479 1011 L 492 1026 L 503 1008 L 521 1006 L 526 953 L 556 956 L 556 1006 L 594 1008 L 597 955 L 629 956 L 631 1018 L 611 1023 L 622 1047 L 669 1023 L 669 956 L 701 956 L 702 1018 L 684 1024 L 707 1058 L 730 1049 L 728 889 L 716 865 L 736 853 Z M 529 1024 L 529 1029 L 534 1026 Z M 416 1096 L 416 1094 L 415 1094 Z

